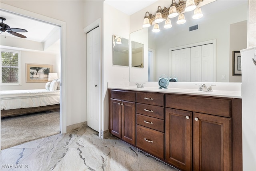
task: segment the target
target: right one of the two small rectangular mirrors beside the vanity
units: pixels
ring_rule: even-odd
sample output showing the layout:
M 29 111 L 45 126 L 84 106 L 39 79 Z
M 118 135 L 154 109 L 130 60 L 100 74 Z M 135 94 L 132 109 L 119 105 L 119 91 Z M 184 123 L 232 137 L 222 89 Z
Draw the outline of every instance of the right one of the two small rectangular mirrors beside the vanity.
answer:
M 131 41 L 132 67 L 143 68 L 143 48 L 143 44 Z

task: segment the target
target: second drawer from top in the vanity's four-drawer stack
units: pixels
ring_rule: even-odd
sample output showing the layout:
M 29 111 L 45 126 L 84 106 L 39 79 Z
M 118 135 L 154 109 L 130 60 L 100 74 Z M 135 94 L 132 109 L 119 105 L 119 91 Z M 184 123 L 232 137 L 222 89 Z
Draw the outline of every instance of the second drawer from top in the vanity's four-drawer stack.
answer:
M 136 113 L 164 119 L 164 107 L 155 105 L 146 105 L 142 103 L 136 104 Z

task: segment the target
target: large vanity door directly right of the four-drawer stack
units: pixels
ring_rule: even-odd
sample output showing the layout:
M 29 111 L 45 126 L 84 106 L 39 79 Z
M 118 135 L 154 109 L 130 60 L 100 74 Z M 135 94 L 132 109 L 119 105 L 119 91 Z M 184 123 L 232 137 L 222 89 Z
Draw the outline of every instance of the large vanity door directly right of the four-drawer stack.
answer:
M 192 112 L 166 108 L 166 161 L 184 170 L 192 169 Z

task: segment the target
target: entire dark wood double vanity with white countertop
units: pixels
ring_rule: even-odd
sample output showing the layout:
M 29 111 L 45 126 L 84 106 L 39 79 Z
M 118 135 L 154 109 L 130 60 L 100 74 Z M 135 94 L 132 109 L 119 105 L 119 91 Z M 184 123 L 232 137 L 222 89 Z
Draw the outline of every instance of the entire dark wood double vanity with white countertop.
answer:
M 184 171 L 242 171 L 240 84 L 212 92 L 194 83 L 130 85 L 109 83 L 112 135 Z

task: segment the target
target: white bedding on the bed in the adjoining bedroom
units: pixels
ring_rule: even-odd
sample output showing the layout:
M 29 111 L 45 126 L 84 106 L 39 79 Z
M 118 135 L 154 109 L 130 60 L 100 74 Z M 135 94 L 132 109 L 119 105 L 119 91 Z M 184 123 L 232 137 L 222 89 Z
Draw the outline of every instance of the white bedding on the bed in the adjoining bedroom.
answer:
M 1 91 L 1 110 L 60 104 L 60 90 L 46 89 Z

